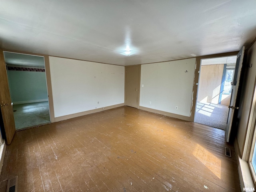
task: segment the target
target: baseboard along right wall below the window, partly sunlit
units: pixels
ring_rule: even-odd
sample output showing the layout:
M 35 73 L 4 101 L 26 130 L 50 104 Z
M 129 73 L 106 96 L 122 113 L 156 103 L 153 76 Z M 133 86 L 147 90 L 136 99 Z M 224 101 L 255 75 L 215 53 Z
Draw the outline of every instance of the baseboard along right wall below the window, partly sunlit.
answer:
M 249 164 L 248 162 L 242 160 L 242 158 L 240 157 L 241 154 L 240 154 L 237 138 L 235 138 L 235 141 L 234 141 L 234 148 L 236 152 L 236 162 L 238 166 L 238 174 L 239 174 L 241 191 L 244 191 L 244 188 L 253 188 L 254 182 L 252 179 L 252 174 L 250 172 Z

